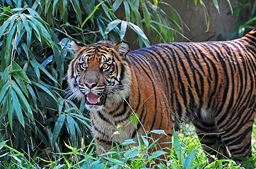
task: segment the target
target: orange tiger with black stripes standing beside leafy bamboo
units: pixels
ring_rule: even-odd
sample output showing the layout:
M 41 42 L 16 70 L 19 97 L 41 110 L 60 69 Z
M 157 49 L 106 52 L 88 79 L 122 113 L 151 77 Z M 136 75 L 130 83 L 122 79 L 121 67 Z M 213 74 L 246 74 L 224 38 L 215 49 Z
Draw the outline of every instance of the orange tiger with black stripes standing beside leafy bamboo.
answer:
M 252 157 L 256 28 L 230 41 L 162 43 L 133 51 L 126 41 L 69 44 L 74 59 L 68 86 L 85 102 L 95 144 L 104 150 L 127 139 L 138 145 L 152 130 L 164 130 L 158 142 L 170 148 L 174 130 L 192 122 L 209 163 L 214 156 L 231 156 L 237 163 Z M 131 123 L 134 113 L 137 125 Z M 113 134 L 117 130 L 122 132 Z

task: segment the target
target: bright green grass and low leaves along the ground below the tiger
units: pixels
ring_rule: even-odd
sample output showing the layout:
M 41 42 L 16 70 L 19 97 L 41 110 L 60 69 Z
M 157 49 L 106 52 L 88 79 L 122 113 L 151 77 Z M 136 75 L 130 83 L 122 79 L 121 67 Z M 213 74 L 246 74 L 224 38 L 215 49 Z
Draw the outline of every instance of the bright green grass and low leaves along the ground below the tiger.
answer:
M 155 130 L 159 137 L 164 133 L 163 131 Z M 248 161 L 255 162 L 256 157 L 256 125 L 253 126 L 253 157 Z M 174 133 L 173 147 L 171 153 L 168 155 L 166 162 L 157 165 L 154 159 L 158 159 L 160 155 L 165 154 L 165 150 L 157 150 L 153 154 L 148 154 L 147 149 L 157 145 L 157 140 L 153 144 L 149 144 L 152 138 L 143 138 L 144 144 L 139 142 L 139 147 L 132 147 L 127 149 L 127 145 L 132 144 L 132 140 L 125 140 L 123 145 L 116 146 L 117 149 L 107 152 L 107 157 L 97 157 L 93 147 L 95 146 L 93 140 L 91 144 L 77 149 L 65 143 L 70 150 L 66 153 L 54 154 L 48 152 L 48 158 L 42 158 L 41 155 L 30 155 L 23 152 L 18 152 L 12 147 L 6 145 L 6 142 L 0 142 L 1 156 L 8 156 L 8 161 L 0 161 L 0 168 L 147 168 L 147 166 L 157 166 L 159 168 L 242 168 L 237 166 L 232 160 L 218 160 L 213 163 L 207 163 L 207 157 L 200 146 L 197 135 L 195 134 L 192 125 L 180 125 L 179 133 Z M 100 146 L 99 146 L 100 147 Z M 102 147 L 101 147 L 102 148 Z M 29 147 L 28 147 L 29 149 Z M 103 148 L 102 148 L 103 149 Z M 167 148 L 168 149 L 168 148 Z M 247 161 L 247 162 L 248 162 Z M 247 166 L 246 168 L 253 168 Z

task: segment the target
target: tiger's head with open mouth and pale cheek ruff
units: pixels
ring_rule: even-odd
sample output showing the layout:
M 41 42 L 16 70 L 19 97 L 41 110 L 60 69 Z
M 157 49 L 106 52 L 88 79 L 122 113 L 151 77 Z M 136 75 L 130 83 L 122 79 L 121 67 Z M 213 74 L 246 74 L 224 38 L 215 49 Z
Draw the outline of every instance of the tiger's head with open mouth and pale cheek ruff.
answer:
M 82 45 L 72 40 L 74 59 L 68 68 L 72 96 L 84 99 L 89 110 L 121 102 L 130 92 L 131 73 L 125 61 L 129 44 L 99 41 Z

